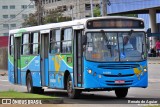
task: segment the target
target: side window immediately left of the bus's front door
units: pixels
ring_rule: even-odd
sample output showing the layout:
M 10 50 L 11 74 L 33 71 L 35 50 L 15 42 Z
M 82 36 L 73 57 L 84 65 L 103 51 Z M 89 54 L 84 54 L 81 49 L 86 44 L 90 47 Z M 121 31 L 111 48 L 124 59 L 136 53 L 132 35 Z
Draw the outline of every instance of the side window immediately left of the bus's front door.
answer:
M 72 52 L 72 29 L 67 28 L 62 30 L 62 53 Z

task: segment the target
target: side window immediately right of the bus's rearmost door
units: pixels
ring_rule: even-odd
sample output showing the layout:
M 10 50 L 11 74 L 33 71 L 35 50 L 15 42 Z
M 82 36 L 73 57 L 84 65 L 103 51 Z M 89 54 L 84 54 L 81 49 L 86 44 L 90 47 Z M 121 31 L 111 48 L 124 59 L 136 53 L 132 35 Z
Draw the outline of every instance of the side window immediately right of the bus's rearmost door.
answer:
M 22 55 L 30 54 L 29 34 L 22 36 Z

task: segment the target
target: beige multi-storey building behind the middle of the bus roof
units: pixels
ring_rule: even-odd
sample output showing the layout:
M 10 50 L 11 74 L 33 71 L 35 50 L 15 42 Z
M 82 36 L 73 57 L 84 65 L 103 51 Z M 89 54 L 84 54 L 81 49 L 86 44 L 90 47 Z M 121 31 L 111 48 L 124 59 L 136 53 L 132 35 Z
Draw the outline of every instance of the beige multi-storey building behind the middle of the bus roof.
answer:
M 99 6 L 100 0 L 92 0 L 93 8 Z M 46 15 L 52 9 L 60 9 L 64 11 L 64 16 L 72 17 L 73 19 L 81 19 L 91 17 L 90 0 L 42 0 L 44 7 L 43 15 Z

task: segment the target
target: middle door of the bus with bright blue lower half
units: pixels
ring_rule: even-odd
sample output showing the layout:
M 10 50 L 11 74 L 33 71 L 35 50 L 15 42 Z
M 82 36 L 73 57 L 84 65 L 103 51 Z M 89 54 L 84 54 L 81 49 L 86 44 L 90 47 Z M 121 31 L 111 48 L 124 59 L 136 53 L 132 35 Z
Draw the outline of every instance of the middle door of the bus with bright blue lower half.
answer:
M 40 65 L 41 65 L 41 85 L 48 86 L 48 48 L 49 48 L 49 33 L 41 32 L 41 48 L 40 48 Z

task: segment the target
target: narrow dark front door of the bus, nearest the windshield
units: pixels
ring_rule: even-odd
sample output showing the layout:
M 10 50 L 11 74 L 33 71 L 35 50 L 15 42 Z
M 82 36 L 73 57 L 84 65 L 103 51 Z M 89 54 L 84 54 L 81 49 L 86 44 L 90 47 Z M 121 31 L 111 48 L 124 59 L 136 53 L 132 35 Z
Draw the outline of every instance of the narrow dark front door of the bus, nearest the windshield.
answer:
M 74 31 L 74 86 L 82 87 L 83 61 L 82 61 L 82 30 Z

